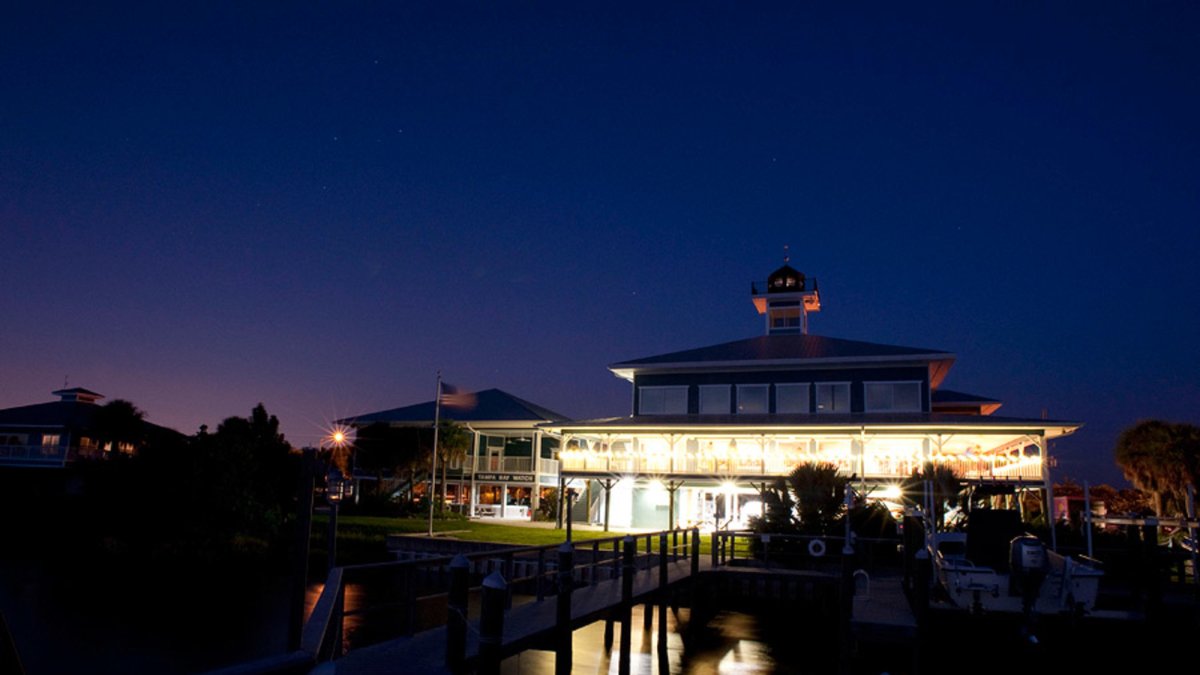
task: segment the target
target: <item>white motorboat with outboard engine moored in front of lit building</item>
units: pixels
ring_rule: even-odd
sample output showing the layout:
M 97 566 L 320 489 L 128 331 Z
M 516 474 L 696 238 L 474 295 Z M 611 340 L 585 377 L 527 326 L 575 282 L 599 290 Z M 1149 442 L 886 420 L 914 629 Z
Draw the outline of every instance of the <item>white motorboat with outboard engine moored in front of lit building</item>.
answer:
M 1104 572 L 1048 549 L 1014 510 L 976 510 L 965 532 L 928 534 L 937 583 L 976 613 L 1074 614 L 1096 608 Z

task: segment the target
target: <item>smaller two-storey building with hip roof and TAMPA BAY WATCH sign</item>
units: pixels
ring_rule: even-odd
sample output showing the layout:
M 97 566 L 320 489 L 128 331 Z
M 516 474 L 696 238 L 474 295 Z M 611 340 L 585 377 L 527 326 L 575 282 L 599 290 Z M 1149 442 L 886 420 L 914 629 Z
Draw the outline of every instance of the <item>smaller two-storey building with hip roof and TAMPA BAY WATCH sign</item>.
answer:
M 448 467 L 448 496 L 481 518 L 529 519 L 558 485 L 558 434 L 542 424 L 566 417 L 500 389 L 457 396 L 436 410 L 434 401 L 365 413 L 338 420 L 355 429 L 373 424 L 431 429 L 434 417 L 470 432 L 470 453 Z

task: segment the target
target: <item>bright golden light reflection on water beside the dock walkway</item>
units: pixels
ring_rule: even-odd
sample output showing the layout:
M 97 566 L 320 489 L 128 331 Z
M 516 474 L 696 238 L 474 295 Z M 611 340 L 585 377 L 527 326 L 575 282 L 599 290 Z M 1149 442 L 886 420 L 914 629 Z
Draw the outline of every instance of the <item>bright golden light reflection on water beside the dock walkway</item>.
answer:
M 809 631 L 799 629 L 787 616 L 752 616 L 721 613 L 701 631 L 688 631 L 689 611 L 667 611 L 666 650 L 658 649 L 658 613 L 649 631 L 643 629 L 643 607 L 634 608 L 630 673 L 829 673 L 835 664 L 811 653 L 828 644 Z M 613 646 L 605 649 L 605 622 L 598 621 L 575 632 L 572 673 L 618 673 L 620 623 L 613 629 Z M 542 675 L 554 671 L 554 652 L 529 650 L 506 659 L 504 675 Z

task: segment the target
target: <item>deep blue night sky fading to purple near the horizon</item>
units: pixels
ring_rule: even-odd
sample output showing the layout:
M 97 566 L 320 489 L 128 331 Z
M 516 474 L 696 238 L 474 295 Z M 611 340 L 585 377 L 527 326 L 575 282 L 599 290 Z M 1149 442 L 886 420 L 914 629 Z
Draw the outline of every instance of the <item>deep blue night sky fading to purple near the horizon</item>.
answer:
M 790 245 L 812 333 L 1085 423 L 1060 476 L 1200 423 L 1195 2 L 14 5 L 0 407 L 628 414 Z

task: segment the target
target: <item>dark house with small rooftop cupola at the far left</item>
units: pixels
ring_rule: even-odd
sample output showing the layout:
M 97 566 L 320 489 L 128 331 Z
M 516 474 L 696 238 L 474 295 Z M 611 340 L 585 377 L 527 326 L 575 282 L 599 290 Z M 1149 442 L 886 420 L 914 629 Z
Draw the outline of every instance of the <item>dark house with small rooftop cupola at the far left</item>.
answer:
M 128 442 L 102 442 L 98 413 L 103 399 L 83 387 L 52 392 L 56 401 L 0 410 L 0 466 L 61 468 L 76 460 L 110 453 L 133 454 Z M 142 422 L 143 436 L 176 431 Z

